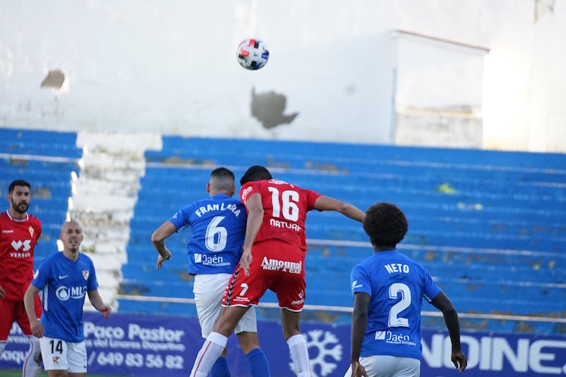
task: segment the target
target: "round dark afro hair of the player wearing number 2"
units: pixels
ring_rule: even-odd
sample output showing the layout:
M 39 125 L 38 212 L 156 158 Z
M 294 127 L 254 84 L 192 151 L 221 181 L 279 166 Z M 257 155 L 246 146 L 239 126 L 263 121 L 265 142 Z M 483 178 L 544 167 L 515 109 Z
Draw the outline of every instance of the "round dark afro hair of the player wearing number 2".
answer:
M 403 211 L 395 204 L 387 202 L 380 202 L 369 207 L 363 226 L 372 245 L 392 248 L 395 248 L 395 245 L 405 238 L 409 228 Z

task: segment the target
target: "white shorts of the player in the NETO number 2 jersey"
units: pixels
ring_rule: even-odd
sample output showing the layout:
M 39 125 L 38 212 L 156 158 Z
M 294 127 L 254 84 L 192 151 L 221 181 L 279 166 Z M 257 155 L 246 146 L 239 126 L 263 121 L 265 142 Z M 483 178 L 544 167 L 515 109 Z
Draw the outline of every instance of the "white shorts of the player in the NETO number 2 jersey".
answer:
M 420 360 L 412 357 L 389 355 L 362 356 L 359 358 L 369 377 L 419 377 Z M 352 366 L 344 377 L 352 377 Z

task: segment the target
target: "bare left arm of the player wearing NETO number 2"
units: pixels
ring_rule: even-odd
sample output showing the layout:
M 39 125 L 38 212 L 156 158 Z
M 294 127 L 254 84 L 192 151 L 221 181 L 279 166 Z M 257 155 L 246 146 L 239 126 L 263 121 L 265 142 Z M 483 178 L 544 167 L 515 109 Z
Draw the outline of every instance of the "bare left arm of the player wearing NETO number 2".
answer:
M 364 292 L 354 294 L 354 311 L 352 312 L 352 354 L 350 363 L 352 364 L 352 376 L 366 376 L 366 370 L 359 364 L 359 354 L 362 352 L 362 342 L 367 327 L 367 311 L 371 297 Z

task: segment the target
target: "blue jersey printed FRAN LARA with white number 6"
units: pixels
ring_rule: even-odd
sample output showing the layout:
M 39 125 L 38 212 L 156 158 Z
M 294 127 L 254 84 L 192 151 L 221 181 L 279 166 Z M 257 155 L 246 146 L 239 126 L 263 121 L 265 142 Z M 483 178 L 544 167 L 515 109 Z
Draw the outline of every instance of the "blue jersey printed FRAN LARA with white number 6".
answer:
M 180 209 L 169 221 L 180 231 L 192 230 L 189 274 L 231 274 L 242 255 L 246 236 L 246 207 L 226 194 L 198 200 Z

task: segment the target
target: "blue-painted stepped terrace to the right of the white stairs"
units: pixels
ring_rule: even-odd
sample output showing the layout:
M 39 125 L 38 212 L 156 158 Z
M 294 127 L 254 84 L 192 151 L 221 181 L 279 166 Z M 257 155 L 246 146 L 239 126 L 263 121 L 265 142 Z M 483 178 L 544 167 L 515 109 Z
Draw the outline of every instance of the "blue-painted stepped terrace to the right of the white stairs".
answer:
M 163 149 L 147 152 L 146 161 L 128 245 L 132 267 L 122 270 L 131 281 L 144 282 L 144 264 L 154 265 L 151 232 L 178 208 L 206 195 L 212 168 L 227 166 L 239 178 L 248 166 L 260 164 L 279 179 L 362 209 L 379 201 L 398 204 L 410 224 L 400 251 L 429 269 L 458 311 L 560 315 L 566 284 L 563 154 L 163 137 Z M 313 212 L 306 228 L 309 240 L 359 243 L 317 241 L 306 257 L 306 303 L 351 306 L 350 270 L 371 255 L 362 227 L 340 214 Z M 184 231 L 168 240 L 175 260 L 183 264 L 189 237 Z M 152 284 L 147 289 L 158 291 Z M 322 317 L 306 314 L 313 320 Z M 342 314 L 331 318 L 349 320 Z M 424 323 L 444 327 L 434 318 Z M 463 320 L 468 328 L 483 330 L 516 330 L 513 323 Z M 555 330 L 541 323 L 521 328 Z

